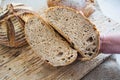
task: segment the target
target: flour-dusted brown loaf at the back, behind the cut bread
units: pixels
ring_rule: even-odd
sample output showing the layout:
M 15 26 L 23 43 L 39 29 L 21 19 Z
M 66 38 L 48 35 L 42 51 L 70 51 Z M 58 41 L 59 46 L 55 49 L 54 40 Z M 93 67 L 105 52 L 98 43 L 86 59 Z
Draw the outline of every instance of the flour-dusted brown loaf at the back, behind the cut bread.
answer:
M 80 11 L 84 16 L 89 17 L 95 10 L 89 6 L 94 0 L 48 0 L 48 7 L 64 6 Z

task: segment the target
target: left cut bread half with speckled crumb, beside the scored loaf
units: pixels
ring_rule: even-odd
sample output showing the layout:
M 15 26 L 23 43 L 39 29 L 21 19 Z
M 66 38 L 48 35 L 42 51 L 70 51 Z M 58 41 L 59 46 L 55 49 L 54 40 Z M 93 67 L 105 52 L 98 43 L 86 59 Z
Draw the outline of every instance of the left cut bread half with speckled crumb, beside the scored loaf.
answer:
M 42 18 L 29 19 L 25 25 L 25 34 L 33 50 L 53 66 L 65 66 L 77 58 L 77 51 Z

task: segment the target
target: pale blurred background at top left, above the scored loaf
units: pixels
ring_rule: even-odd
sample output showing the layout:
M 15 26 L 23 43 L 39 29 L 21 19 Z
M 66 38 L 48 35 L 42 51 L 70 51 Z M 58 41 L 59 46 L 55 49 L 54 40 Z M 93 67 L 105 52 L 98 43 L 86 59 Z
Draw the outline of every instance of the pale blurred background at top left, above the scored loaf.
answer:
M 30 6 L 36 12 L 42 12 L 47 8 L 47 0 L 0 0 L 0 6 L 5 7 L 9 3 L 21 3 Z

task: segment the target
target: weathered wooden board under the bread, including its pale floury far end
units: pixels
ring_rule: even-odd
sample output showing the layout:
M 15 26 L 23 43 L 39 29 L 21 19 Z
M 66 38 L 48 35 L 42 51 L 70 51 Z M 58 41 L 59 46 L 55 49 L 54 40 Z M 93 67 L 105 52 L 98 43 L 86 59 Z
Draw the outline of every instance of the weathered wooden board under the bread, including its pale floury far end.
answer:
M 105 17 L 96 7 L 89 19 L 101 34 L 110 33 L 120 25 Z M 65 67 L 44 63 L 29 45 L 22 48 L 0 46 L 0 80 L 79 80 L 110 55 L 100 54 L 91 61 L 76 61 Z

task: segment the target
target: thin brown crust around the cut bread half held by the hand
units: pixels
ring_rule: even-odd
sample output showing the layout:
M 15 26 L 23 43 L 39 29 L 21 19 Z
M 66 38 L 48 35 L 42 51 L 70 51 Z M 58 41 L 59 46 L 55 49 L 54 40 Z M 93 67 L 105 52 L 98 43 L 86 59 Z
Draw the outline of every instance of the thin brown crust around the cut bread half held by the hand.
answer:
M 77 10 L 74 10 L 72 8 L 69 8 L 69 7 L 64 7 L 64 6 L 55 6 L 55 7 L 50 7 L 47 11 L 46 11 L 46 15 L 48 14 L 48 12 L 54 8 L 65 8 L 65 9 L 68 9 L 68 10 L 71 10 L 79 15 L 81 15 L 86 21 L 88 21 L 91 25 L 94 25 L 89 19 L 87 19 L 84 15 L 82 15 L 79 11 Z M 47 23 L 49 23 L 54 29 L 56 29 L 69 43 L 72 43 L 72 41 L 69 39 L 69 36 L 66 36 L 64 34 L 63 31 L 61 31 L 57 26 L 53 25 L 47 18 L 46 18 L 46 21 Z M 80 53 L 80 55 L 82 55 L 82 58 L 80 57 L 79 59 L 82 60 L 82 61 L 86 61 L 86 60 L 91 60 L 93 59 L 94 57 L 96 57 L 99 53 L 99 49 L 100 49 L 100 35 L 99 35 L 99 31 L 97 30 L 96 26 L 94 25 L 94 29 L 96 31 L 96 35 L 97 35 L 97 51 L 96 51 L 96 54 L 94 54 L 92 57 L 86 57 L 85 54 L 77 47 L 77 46 L 74 46 L 74 48 Z

